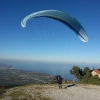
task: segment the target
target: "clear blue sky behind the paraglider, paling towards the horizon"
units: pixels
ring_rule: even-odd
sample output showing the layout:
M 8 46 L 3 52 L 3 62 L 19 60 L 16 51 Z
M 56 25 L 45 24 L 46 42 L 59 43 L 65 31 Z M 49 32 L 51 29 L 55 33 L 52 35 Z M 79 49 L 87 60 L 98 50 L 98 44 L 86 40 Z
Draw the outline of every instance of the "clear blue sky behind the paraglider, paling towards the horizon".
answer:
M 76 18 L 89 41 L 83 43 L 61 22 L 34 18 L 37 11 L 60 10 Z M 100 0 L 0 0 L 0 60 L 100 64 Z

